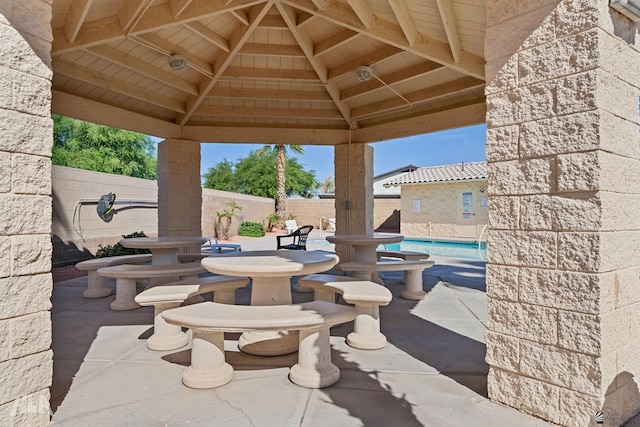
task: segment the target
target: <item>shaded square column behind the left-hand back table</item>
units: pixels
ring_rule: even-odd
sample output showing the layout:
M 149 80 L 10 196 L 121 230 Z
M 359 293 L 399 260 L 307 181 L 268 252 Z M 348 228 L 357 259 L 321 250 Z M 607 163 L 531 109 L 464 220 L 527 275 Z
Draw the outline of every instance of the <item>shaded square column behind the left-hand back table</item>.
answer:
M 200 236 L 201 217 L 200 143 L 166 139 L 158 144 L 158 235 Z

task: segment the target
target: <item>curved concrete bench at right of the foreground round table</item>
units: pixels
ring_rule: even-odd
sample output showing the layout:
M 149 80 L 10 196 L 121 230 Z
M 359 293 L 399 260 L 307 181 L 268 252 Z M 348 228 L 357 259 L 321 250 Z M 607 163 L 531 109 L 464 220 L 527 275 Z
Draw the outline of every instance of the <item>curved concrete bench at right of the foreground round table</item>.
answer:
M 298 279 L 298 283 L 312 288 L 316 299 L 334 302 L 335 295 L 340 294 L 347 304 L 358 309 L 353 332 L 347 336 L 348 345 L 362 350 L 377 350 L 387 345 L 387 337 L 380 332 L 380 306 L 391 302 L 389 289 L 374 282 L 332 274 L 310 274 Z

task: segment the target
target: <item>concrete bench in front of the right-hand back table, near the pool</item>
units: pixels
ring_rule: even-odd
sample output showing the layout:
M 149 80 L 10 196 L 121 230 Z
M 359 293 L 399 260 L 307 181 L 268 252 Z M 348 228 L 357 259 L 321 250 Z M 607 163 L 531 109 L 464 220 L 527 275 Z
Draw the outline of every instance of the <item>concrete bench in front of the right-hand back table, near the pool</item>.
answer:
M 371 280 L 374 271 L 404 271 L 405 284 L 400 296 L 410 300 L 424 299 L 427 294 L 422 290 L 422 271 L 433 267 L 433 261 L 378 261 L 369 262 L 345 262 L 339 265 L 340 270 L 351 272 L 354 277 L 361 280 Z

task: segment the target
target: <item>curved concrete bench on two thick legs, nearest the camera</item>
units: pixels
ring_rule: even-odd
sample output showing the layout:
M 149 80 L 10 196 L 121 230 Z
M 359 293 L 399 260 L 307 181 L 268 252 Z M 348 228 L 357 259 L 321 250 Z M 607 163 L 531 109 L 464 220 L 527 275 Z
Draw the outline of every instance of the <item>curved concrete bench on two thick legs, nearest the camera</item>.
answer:
M 167 323 L 192 330 L 191 366 L 182 382 L 191 388 L 219 387 L 231 381 L 224 332 L 300 331 L 298 363 L 289 379 L 301 387 L 322 388 L 340 379 L 331 363 L 329 328 L 356 318 L 358 310 L 326 301 L 291 305 L 227 305 L 203 302 L 162 313 Z

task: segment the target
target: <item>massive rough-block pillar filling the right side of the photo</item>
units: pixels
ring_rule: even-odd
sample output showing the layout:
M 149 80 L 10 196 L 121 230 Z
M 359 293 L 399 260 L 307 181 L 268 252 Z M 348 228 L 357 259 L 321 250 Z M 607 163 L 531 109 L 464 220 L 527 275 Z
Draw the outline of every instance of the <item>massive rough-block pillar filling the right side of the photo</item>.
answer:
M 639 27 L 608 1 L 486 5 L 489 397 L 620 425 L 640 408 Z

